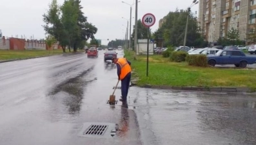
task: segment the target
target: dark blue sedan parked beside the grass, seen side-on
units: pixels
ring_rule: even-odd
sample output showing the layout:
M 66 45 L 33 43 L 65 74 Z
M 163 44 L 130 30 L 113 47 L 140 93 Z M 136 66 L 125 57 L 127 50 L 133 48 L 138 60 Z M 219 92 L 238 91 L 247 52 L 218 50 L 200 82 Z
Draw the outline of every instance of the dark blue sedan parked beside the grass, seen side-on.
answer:
M 246 68 L 247 64 L 256 63 L 256 57 L 248 57 L 240 50 L 219 50 L 215 55 L 209 55 L 208 64 L 235 64 L 237 67 Z

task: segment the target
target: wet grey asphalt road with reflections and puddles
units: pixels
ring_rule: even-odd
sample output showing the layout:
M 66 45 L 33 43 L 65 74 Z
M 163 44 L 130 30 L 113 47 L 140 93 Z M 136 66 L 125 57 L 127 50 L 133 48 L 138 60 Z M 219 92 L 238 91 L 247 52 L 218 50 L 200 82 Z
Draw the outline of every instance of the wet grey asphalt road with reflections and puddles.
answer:
M 1 63 L 0 144 L 256 144 L 254 96 L 131 87 L 128 107 L 106 104 L 117 76 L 103 52 Z M 87 124 L 108 128 L 85 137 Z

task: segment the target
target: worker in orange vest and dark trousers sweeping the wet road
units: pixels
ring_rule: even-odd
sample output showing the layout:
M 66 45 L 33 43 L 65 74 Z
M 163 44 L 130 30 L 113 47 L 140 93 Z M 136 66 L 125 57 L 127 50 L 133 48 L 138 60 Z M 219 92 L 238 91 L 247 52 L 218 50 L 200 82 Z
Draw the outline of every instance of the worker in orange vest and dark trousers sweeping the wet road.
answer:
M 112 58 L 112 63 L 117 64 L 117 76 L 118 79 L 121 80 L 121 99 L 122 102 L 127 101 L 128 90 L 130 86 L 131 76 L 132 76 L 132 68 L 131 62 L 126 58 Z

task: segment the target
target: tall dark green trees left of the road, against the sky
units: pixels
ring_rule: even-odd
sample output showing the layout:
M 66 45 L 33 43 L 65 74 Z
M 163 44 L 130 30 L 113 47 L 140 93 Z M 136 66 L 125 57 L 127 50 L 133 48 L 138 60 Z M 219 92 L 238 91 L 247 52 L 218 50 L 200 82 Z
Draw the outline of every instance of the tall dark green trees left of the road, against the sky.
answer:
M 61 6 L 57 5 L 57 0 L 52 0 L 43 15 L 44 31 L 59 42 L 63 52 L 66 46 L 76 52 L 77 48 L 84 48 L 88 39 L 95 39 L 97 28 L 87 21 L 82 9 L 80 0 L 66 0 Z

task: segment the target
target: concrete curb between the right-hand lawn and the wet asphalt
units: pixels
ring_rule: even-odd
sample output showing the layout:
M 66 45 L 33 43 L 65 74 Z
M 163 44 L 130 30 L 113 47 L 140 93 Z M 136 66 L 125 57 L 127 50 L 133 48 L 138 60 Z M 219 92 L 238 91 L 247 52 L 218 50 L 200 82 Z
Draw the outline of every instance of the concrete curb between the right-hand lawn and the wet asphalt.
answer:
M 133 84 L 134 86 L 134 84 Z M 250 93 L 250 88 L 246 87 L 197 87 L 197 86 L 152 86 L 144 84 L 139 87 L 153 88 L 153 89 L 166 89 L 166 90 L 186 90 L 186 91 L 201 91 L 201 92 L 230 92 L 230 93 Z

